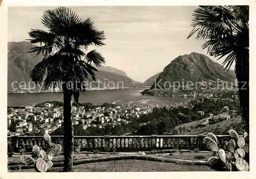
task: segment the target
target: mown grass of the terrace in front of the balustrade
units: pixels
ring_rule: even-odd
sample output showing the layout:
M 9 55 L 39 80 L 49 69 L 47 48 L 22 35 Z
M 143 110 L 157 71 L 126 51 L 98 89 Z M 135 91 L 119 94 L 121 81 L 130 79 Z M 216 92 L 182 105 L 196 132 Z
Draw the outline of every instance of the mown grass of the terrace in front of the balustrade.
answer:
M 91 159 L 91 158 L 102 158 L 102 157 L 111 157 L 111 156 L 120 156 L 123 154 L 103 154 L 103 155 L 93 155 L 93 154 L 75 154 L 75 160 L 81 159 Z M 126 154 L 124 154 L 126 155 Z M 182 160 L 192 160 L 206 161 L 208 158 L 212 157 L 212 152 L 207 153 L 195 153 L 195 152 L 184 152 L 182 154 L 174 153 L 173 155 L 165 154 L 153 154 L 150 156 L 162 157 L 162 158 L 173 158 L 173 159 L 182 159 Z M 199 157 L 201 156 L 201 157 Z M 22 165 L 19 159 L 20 156 L 13 156 L 8 158 L 8 166 L 11 165 Z M 200 159 L 199 159 L 200 158 Z M 64 158 L 62 155 L 55 156 L 53 158 L 54 162 L 63 162 Z M 74 166 L 77 172 L 116 172 L 116 171 L 211 171 L 208 166 L 200 165 L 185 165 L 185 164 L 175 164 L 175 163 L 165 163 L 157 161 L 145 161 L 145 160 L 119 160 L 119 161 L 106 161 L 106 162 L 95 162 L 80 164 Z M 49 172 L 60 172 L 63 170 L 63 167 L 53 167 Z M 35 169 L 20 169 L 20 170 L 8 170 L 8 172 L 35 172 Z

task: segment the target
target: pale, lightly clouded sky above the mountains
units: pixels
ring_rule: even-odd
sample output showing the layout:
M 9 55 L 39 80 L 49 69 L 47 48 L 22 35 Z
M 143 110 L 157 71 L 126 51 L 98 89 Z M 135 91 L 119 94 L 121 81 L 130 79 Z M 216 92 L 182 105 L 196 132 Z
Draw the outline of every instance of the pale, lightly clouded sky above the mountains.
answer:
M 47 30 L 41 23 L 45 10 L 56 7 L 9 7 L 8 41 L 29 39 L 31 29 Z M 192 52 L 207 55 L 203 41 L 186 39 L 193 29 L 196 6 L 88 6 L 69 7 L 81 18 L 91 18 L 104 31 L 106 45 L 97 49 L 105 65 L 118 68 L 139 82 L 163 71 L 172 60 Z M 208 56 L 208 55 L 207 55 Z M 209 56 L 208 56 L 209 57 Z M 224 59 L 216 60 L 222 63 Z M 234 69 L 234 65 L 230 69 Z

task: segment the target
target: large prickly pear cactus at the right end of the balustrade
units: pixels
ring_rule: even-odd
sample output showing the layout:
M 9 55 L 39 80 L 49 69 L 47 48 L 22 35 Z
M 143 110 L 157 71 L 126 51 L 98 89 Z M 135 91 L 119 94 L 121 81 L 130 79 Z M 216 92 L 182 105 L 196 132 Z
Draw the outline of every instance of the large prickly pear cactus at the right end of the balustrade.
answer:
M 226 151 L 218 148 L 218 140 L 215 142 L 217 138 L 214 134 L 208 133 L 204 138 L 203 142 L 208 149 L 215 152 L 218 149 L 218 157 L 209 158 L 208 164 L 217 171 L 249 171 L 249 145 L 245 139 L 248 134 L 245 132 L 240 137 L 234 130 L 228 133 L 232 139 L 226 143 Z

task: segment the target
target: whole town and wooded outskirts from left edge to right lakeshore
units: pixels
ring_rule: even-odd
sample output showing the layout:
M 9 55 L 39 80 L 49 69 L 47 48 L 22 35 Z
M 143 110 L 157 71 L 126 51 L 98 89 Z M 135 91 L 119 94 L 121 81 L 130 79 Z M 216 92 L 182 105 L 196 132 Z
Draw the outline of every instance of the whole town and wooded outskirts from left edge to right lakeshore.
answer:
M 224 98 L 221 99 L 221 96 Z M 203 111 L 202 109 L 204 108 L 201 108 L 200 104 L 203 103 L 204 99 L 209 99 L 209 101 L 223 100 L 226 102 L 222 107 L 220 106 L 220 109 L 216 108 L 215 111 L 212 111 L 212 108 L 205 109 Z M 131 122 L 134 122 L 134 120 L 143 117 L 143 115 L 150 116 L 150 113 L 155 108 L 162 109 L 165 107 L 166 109 L 178 109 L 179 111 L 189 108 L 191 109 L 189 115 L 191 115 L 191 113 L 195 113 L 197 115 L 193 120 L 207 118 L 207 120 L 210 119 L 210 123 L 213 123 L 214 121 L 222 120 L 222 118 L 225 120 L 230 119 L 230 114 L 233 114 L 231 112 L 234 111 L 234 107 L 232 105 L 233 101 L 237 101 L 237 95 L 234 92 L 228 92 L 222 95 L 212 95 L 207 93 L 199 95 L 197 98 L 191 98 L 183 103 L 177 103 L 174 105 L 116 105 L 104 103 L 101 106 L 97 106 L 88 103 L 72 107 L 72 120 L 73 125 L 79 125 L 83 130 L 87 130 L 88 127 L 104 129 L 105 126 L 115 127 L 120 124 L 127 126 Z M 228 113 L 229 111 L 230 113 Z M 179 113 L 178 117 L 181 114 L 183 113 Z M 151 119 L 147 119 L 146 122 L 135 122 L 133 125 L 137 125 L 138 127 L 146 125 L 151 122 L 150 120 Z M 53 101 L 52 103 L 8 108 L 8 136 L 52 134 L 62 126 L 63 105 L 61 102 Z

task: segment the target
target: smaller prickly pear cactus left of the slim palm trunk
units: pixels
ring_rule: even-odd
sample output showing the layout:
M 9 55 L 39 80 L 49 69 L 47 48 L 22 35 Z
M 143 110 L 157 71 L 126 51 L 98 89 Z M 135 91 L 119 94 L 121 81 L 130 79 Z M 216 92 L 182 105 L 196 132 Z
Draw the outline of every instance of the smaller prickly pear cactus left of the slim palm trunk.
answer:
M 46 147 L 40 149 L 39 146 L 34 145 L 32 147 L 32 156 L 24 155 L 20 157 L 20 161 L 25 165 L 35 165 L 35 169 L 38 172 L 47 172 L 52 166 L 52 159 L 58 155 L 61 151 L 61 145 L 51 143 L 51 136 L 48 134 L 44 135 L 44 143 Z M 47 161 L 45 161 L 47 156 Z

